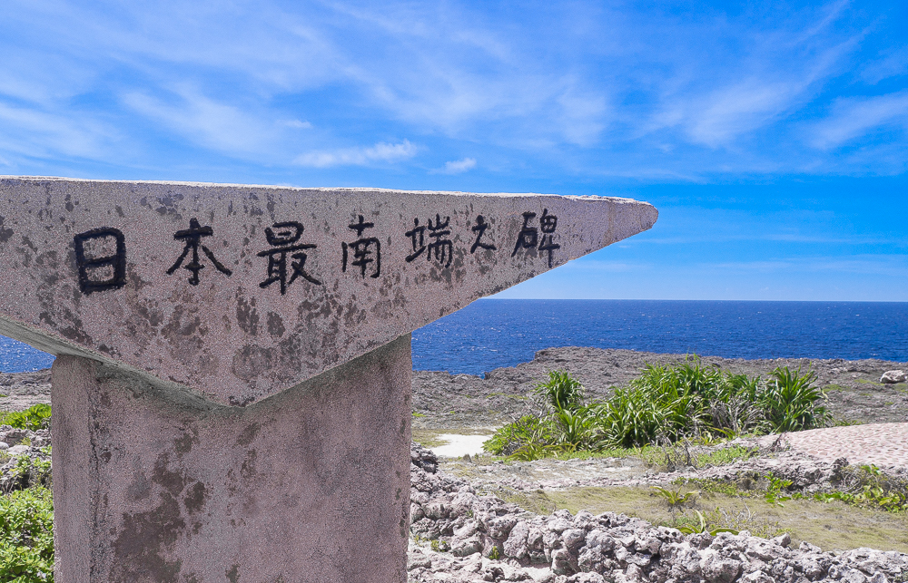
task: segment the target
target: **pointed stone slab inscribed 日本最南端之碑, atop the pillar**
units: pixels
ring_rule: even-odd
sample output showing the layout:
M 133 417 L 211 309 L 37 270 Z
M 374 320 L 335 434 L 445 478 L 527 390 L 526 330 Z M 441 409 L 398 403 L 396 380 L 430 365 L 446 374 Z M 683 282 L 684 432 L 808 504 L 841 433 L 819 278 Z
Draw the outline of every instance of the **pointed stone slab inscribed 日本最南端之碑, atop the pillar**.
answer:
M 6 177 L 0 333 L 244 405 L 655 220 L 606 197 Z

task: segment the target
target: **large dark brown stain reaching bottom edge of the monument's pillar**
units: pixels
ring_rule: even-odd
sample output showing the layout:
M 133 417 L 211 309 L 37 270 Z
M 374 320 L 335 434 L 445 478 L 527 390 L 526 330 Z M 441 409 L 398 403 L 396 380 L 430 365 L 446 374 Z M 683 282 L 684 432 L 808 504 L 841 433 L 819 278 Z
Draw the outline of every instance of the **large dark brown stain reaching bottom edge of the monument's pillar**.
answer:
M 152 510 L 135 514 L 124 512 L 123 530 L 112 545 L 112 580 L 178 583 L 183 561 L 169 561 L 164 554 L 185 528 L 179 502 L 166 492 L 161 495 L 161 503 Z

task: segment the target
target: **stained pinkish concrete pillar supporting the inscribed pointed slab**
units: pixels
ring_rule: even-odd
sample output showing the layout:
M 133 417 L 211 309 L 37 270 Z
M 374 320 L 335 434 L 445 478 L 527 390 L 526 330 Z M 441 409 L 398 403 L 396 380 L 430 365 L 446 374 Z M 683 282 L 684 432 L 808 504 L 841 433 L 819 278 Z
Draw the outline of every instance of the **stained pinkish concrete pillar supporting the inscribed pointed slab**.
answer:
M 246 408 L 53 368 L 58 583 L 402 583 L 410 335 Z

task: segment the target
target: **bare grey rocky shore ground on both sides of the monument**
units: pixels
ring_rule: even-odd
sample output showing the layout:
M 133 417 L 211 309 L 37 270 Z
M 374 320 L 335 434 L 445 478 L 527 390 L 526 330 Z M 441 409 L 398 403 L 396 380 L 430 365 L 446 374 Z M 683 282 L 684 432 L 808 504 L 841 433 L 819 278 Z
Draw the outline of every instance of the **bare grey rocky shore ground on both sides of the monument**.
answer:
M 575 374 L 592 398 L 626 386 L 647 363 L 678 362 L 686 355 L 656 355 L 580 347 L 539 351 L 530 363 L 490 371 L 484 377 L 419 371 L 413 374 L 414 439 L 438 432 L 489 431 L 526 412 L 528 394 L 549 370 Z M 733 373 L 765 375 L 776 366 L 810 368 L 828 395 L 834 417 L 848 423 L 908 422 L 908 391 L 902 380 L 884 379 L 908 364 L 877 360 L 775 359 L 746 361 L 703 357 Z M 897 378 L 897 377 L 896 377 Z M 49 403 L 49 371 L 0 375 L 0 408 L 23 410 Z M 427 433 L 428 432 L 428 433 Z M 50 435 L 0 427 L 0 489 L 48 483 Z M 821 462 L 792 451 L 769 451 L 754 439 L 725 446 L 754 448 L 759 455 L 708 467 L 658 471 L 627 460 L 542 460 L 475 463 L 439 460 L 414 442 L 411 457 L 409 580 L 467 583 L 778 581 L 908 581 L 908 555 L 866 547 L 821 549 L 783 533 L 755 536 L 748 530 L 684 534 L 619 511 L 529 510 L 515 494 L 571 488 L 667 486 L 686 479 L 736 481 L 767 472 L 792 481 L 798 491 L 831 491 L 846 460 Z M 29 463 L 22 460 L 28 458 Z M 635 465 L 637 464 L 637 465 Z M 905 469 L 889 469 L 908 480 Z M 519 496 L 518 496 L 519 498 Z M 508 500 L 506 500 L 508 499 Z

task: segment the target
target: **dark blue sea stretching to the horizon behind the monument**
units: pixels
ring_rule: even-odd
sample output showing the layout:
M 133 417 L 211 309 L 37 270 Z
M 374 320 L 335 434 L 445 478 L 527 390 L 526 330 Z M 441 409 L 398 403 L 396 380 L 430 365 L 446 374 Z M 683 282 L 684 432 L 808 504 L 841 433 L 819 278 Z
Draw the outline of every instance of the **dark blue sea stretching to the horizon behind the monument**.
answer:
M 550 346 L 908 361 L 908 303 L 482 299 L 413 333 L 413 368 L 483 374 Z M 54 357 L 0 336 L 0 371 Z

